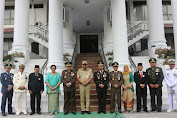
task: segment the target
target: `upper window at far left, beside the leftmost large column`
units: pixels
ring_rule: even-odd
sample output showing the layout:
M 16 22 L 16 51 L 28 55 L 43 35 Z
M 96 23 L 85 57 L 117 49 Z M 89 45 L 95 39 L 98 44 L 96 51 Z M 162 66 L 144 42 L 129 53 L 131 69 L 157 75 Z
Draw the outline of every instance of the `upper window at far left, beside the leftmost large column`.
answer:
M 14 24 L 14 6 L 5 7 L 4 24 L 5 25 Z

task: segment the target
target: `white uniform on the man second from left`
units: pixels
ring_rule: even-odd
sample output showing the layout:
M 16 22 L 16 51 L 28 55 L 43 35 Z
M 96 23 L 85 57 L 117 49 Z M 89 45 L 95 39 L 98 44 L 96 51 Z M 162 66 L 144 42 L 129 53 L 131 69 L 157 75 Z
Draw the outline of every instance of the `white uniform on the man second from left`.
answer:
M 29 74 L 26 72 L 18 72 L 14 74 L 13 84 L 14 84 L 14 92 L 15 92 L 15 99 L 16 99 L 16 113 L 19 114 L 23 112 L 24 114 L 27 113 L 27 90 L 28 90 L 28 80 Z M 24 86 L 24 90 L 18 89 L 19 87 Z

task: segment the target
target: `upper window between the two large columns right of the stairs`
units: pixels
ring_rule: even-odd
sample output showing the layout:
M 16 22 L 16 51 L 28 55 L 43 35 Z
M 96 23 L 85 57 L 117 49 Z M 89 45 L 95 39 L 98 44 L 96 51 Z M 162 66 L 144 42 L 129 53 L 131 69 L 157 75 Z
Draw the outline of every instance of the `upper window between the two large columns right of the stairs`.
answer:
M 146 2 L 138 1 L 138 2 L 133 2 L 134 5 L 134 20 L 135 21 L 145 21 L 147 20 L 147 5 Z

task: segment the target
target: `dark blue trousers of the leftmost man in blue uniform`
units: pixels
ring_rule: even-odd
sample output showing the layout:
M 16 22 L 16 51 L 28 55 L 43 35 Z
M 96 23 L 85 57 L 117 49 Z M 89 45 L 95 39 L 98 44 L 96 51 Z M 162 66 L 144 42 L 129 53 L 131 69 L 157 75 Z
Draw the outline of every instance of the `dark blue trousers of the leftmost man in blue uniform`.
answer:
M 1 112 L 5 113 L 5 108 L 6 108 L 6 101 L 8 99 L 8 112 L 12 112 L 12 97 L 13 97 L 13 92 L 5 92 L 2 93 L 2 102 L 1 102 Z

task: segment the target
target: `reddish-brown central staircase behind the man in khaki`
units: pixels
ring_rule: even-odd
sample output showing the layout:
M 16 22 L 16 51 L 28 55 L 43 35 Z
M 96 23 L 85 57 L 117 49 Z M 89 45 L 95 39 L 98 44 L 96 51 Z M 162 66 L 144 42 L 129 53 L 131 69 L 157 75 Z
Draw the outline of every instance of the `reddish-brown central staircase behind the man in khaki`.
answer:
M 88 61 L 88 68 L 91 68 L 93 73 L 97 71 L 97 62 L 102 60 L 100 54 L 98 53 L 82 53 L 78 54 L 75 60 L 75 68 L 74 70 L 77 72 L 79 68 L 81 68 L 82 61 Z M 110 111 L 110 90 L 107 93 L 107 106 L 106 110 Z M 79 82 L 76 81 L 76 111 L 81 111 L 80 106 L 80 91 L 79 91 Z M 96 92 L 96 84 L 94 80 L 91 81 L 91 91 L 90 91 L 90 111 L 97 112 L 98 111 L 98 99 Z

